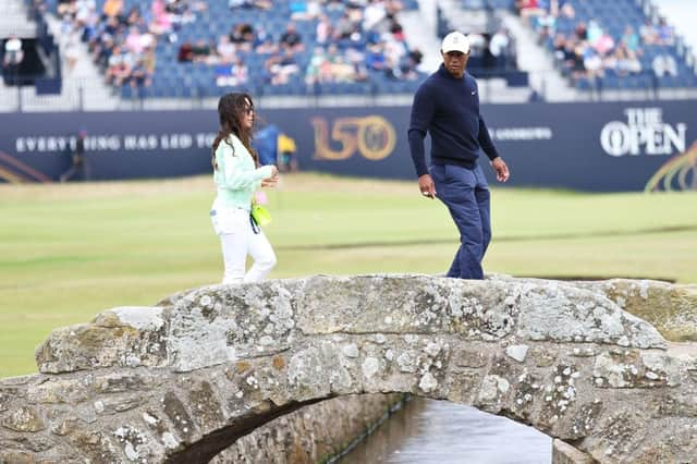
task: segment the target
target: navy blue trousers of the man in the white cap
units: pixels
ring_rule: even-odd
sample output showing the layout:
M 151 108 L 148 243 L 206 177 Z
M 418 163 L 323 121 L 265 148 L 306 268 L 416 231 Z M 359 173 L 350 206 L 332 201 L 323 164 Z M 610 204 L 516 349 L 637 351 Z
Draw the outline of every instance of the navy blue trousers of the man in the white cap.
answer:
M 481 168 L 431 166 L 438 198 L 445 204 L 460 231 L 460 248 L 448 277 L 484 279 L 481 260 L 491 241 L 489 185 Z

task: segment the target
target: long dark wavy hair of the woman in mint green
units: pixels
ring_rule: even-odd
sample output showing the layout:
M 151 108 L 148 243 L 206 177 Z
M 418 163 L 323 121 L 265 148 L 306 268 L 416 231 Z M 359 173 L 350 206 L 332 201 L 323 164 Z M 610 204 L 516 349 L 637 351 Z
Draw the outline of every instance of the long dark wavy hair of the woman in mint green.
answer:
M 254 103 L 252 97 L 246 93 L 232 93 L 225 94 L 220 97 L 218 101 L 218 117 L 220 119 L 220 130 L 218 136 L 213 141 L 212 164 L 213 169 L 218 169 L 216 163 L 216 150 L 221 142 L 228 142 L 230 134 L 234 134 L 242 141 L 242 145 L 249 151 L 255 164 L 258 164 L 258 156 L 256 150 L 252 147 L 250 129 L 245 129 L 242 125 L 242 120 L 247 115 L 247 111 L 254 110 Z M 230 145 L 232 147 L 232 145 Z M 233 148 L 234 155 L 234 148 Z

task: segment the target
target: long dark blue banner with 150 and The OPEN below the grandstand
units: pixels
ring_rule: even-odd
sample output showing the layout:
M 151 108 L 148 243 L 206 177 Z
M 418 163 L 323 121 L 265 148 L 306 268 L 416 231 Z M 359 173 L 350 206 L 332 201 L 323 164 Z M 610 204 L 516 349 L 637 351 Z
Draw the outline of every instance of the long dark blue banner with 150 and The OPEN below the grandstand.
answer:
M 509 185 L 613 192 L 697 187 L 697 100 L 489 105 Z M 261 110 L 301 170 L 414 180 L 408 107 Z M 0 114 L 0 180 L 51 182 L 84 131 L 91 180 L 210 172 L 215 111 Z M 481 157 L 482 164 L 486 157 Z M 485 171 L 493 182 L 492 171 Z

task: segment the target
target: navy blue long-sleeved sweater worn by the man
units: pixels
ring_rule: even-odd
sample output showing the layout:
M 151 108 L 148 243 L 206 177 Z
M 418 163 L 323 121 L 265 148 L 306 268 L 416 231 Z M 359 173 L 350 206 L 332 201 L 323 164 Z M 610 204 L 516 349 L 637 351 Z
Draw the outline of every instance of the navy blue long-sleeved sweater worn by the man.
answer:
M 426 133 L 431 135 L 431 162 L 474 168 L 484 149 L 489 159 L 499 156 L 489 130 L 479 114 L 479 90 L 475 78 L 453 77 L 440 69 L 418 87 L 412 106 L 409 148 L 417 175 L 428 174 L 424 152 Z

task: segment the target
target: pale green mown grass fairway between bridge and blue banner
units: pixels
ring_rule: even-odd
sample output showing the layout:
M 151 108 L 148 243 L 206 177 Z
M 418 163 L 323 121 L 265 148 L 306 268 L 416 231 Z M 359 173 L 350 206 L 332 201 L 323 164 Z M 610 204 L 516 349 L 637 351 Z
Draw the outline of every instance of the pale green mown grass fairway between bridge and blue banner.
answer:
M 0 185 L 0 377 L 36 370 L 51 329 L 218 282 L 208 176 Z M 457 246 L 415 182 L 286 175 L 269 193 L 272 278 L 443 272 Z M 489 272 L 697 282 L 697 193 L 493 191 Z

